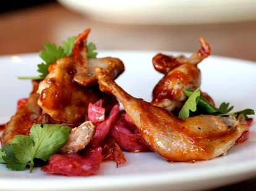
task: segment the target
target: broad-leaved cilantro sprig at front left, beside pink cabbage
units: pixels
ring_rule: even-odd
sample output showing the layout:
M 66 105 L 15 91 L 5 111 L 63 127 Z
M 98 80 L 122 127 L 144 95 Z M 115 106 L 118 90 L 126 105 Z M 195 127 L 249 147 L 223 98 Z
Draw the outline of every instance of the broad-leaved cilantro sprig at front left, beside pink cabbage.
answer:
M 30 166 L 33 171 L 35 158 L 43 161 L 58 152 L 69 139 L 70 128 L 61 124 L 33 124 L 30 136 L 18 135 L 0 150 L 0 163 L 15 171 Z

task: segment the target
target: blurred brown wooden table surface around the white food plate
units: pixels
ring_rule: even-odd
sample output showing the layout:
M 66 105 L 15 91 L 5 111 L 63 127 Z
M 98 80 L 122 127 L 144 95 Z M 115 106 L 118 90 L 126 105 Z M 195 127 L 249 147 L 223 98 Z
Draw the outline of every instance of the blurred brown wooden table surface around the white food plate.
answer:
M 98 49 L 143 49 L 193 52 L 198 37 L 211 44 L 212 54 L 256 61 L 256 22 L 193 26 L 136 26 L 100 23 L 57 3 L 0 15 L 0 55 L 38 52 L 45 41 L 92 28 Z M 255 159 L 256 160 L 256 159 Z M 256 176 L 256 175 L 255 175 Z M 256 190 L 256 179 L 217 190 Z

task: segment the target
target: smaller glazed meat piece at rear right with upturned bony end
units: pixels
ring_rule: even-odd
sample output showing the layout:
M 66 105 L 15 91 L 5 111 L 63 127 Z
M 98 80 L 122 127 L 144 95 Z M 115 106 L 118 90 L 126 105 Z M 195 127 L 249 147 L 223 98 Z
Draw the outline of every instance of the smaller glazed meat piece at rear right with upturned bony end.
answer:
M 155 70 L 164 74 L 153 89 L 153 105 L 172 112 L 184 104 L 187 99 L 184 93 L 186 89 L 195 90 L 200 86 L 201 74 L 197 64 L 210 55 L 208 43 L 200 38 L 200 44 L 201 48 L 188 59 L 182 55 L 173 57 L 157 54 L 153 57 Z M 208 95 L 205 98 L 214 104 Z

